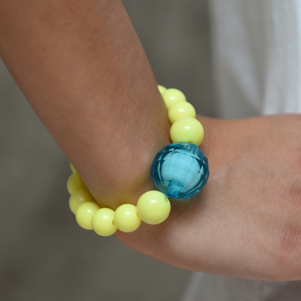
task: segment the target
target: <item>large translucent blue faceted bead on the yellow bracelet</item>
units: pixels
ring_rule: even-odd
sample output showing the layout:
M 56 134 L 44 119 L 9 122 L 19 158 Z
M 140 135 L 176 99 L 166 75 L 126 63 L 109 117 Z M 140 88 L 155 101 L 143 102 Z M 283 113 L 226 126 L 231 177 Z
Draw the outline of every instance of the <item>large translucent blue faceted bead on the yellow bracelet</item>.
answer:
M 198 194 L 209 177 L 206 156 L 200 147 L 189 142 L 164 146 L 156 155 L 151 170 L 158 190 L 177 199 Z

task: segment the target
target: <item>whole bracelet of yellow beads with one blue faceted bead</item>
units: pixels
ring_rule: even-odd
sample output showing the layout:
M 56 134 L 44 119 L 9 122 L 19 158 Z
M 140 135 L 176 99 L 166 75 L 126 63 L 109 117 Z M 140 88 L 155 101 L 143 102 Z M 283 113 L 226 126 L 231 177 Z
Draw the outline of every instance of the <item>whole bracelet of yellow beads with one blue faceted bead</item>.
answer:
M 158 85 L 168 109 L 172 144 L 164 146 L 151 166 L 152 178 L 159 191 L 147 191 L 137 205 L 123 204 L 115 211 L 100 208 L 79 174 L 70 163 L 72 174 L 67 181 L 70 193 L 69 207 L 76 222 L 84 229 L 98 235 L 110 236 L 120 230 L 135 231 L 141 221 L 157 225 L 170 213 L 168 197 L 187 199 L 206 185 L 209 177 L 208 160 L 198 145 L 204 138 L 202 124 L 195 118 L 194 107 L 178 89 Z M 180 142 L 179 142 L 180 141 Z

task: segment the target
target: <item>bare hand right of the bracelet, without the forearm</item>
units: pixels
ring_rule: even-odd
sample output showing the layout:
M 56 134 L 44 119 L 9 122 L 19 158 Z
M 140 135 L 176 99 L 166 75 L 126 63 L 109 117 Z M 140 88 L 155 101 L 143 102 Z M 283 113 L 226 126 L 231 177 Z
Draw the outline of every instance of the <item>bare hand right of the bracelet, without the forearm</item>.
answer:
M 262 280 L 300 279 L 301 118 L 200 118 L 207 185 L 172 201 L 161 225 L 116 236 L 191 270 Z

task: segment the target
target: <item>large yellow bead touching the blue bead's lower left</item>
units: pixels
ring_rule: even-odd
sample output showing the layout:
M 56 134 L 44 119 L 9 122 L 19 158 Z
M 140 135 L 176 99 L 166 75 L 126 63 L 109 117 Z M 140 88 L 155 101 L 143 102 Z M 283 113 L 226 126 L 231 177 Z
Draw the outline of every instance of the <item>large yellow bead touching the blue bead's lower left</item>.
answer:
M 147 191 L 137 202 L 138 216 L 147 224 L 157 225 L 164 222 L 170 213 L 170 203 L 160 191 Z

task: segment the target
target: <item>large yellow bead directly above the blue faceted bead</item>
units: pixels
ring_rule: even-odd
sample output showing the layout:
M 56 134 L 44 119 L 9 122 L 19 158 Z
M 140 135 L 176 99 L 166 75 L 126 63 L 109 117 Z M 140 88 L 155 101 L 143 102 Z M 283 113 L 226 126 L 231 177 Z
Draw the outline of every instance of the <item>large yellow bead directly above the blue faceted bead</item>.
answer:
M 202 124 L 195 118 L 183 117 L 176 120 L 170 128 L 171 141 L 184 141 L 200 145 L 204 138 Z

